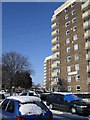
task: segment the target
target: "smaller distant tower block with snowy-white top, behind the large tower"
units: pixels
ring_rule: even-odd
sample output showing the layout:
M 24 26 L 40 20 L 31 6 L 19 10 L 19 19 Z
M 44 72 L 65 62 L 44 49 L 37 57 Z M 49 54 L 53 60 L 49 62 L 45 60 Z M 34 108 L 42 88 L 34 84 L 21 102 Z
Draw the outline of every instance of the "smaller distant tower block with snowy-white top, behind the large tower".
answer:
M 48 56 L 44 60 L 44 89 L 52 90 L 52 56 Z

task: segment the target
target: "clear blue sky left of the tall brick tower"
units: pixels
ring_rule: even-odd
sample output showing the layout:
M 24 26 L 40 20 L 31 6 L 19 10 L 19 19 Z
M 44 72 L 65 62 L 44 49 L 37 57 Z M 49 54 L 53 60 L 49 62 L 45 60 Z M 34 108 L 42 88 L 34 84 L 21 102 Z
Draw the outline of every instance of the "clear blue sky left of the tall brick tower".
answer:
M 28 57 L 35 84 L 43 84 L 44 59 L 52 54 L 51 17 L 60 2 L 3 3 L 2 52 L 16 51 Z

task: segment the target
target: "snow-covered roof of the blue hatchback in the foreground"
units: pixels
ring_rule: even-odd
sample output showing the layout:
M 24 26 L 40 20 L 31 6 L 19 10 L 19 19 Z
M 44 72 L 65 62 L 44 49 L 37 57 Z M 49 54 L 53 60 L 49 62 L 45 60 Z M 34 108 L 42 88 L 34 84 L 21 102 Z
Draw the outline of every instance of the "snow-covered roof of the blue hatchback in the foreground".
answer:
M 33 101 L 41 101 L 40 98 L 35 97 L 35 96 L 10 96 L 10 97 L 7 97 L 7 98 L 19 101 L 21 103 L 33 102 Z

